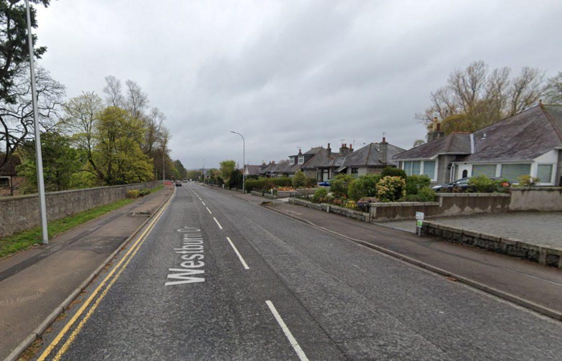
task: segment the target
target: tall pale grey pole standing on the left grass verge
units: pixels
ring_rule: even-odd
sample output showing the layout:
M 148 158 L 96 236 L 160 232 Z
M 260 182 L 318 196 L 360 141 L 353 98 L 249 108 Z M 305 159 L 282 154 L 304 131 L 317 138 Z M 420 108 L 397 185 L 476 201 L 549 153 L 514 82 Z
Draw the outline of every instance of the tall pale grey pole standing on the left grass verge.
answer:
M 33 103 L 33 125 L 35 133 L 35 163 L 37 164 L 37 188 L 39 190 L 39 212 L 41 216 L 41 237 L 43 244 L 49 243 L 47 232 L 47 204 L 45 201 L 45 183 L 43 181 L 43 157 L 41 155 L 41 135 L 37 114 L 37 91 L 35 90 L 35 65 L 33 58 L 33 36 L 31 35 L 31 15 L 29 0 L 25 0 L 25 10 L 28 18 L 29 70 L 31 72 L 31 102 Z

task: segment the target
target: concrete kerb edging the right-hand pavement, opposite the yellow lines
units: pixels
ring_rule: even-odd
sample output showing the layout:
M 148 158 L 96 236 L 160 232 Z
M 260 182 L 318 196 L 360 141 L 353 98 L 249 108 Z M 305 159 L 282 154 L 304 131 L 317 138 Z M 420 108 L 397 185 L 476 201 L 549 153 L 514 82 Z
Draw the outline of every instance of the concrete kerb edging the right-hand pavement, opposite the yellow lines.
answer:
M 477 282 L 477 281 L 474 281 L 474 280 L 470 280 L 470 278 L 466 278 L 466 277 L 463 277 L 463 276 L 460 276 L 460 275 L 456 275 L 455 273 L 448 272 L 448 271 L 446 271 L 445 269 L 432 266 L 432 265 L 430 265 L 430 264 L 428 264 L 428 263 L 425 263 L 425 262 L 422 262 L 422 261 L 418 261 L 418 260 L 416 260 L 416 259 L 414 259 L 414 258 L 410 258 L 410 257 L 408 257 L 408 256 L 406 256 L 406 255 L 404 255 L 404 254 L 400 254 L 400 253 L 394 252 L 393 250 L 390 250 L 390 249 L 387 249 L 387 248 L 384 248 L 384 247 L 381 247 L 381 246 L 378 246 L 378 245 L 370 244 L 370 243 L 368 243 L 368 242 L 366 242 L 366 241 L 362 241 L 362 240 L 360 240 L 360 239 L 355 239 L 355 238 L 353 238 L 353 237 L 349 237 L 349 236 L 340 234 L 340 233 L 338 233 L 338 232 L 334 232 L 334 231 L 329 230 L 329 229 L 326 229 L 326 228 L 324 228 L 324 227 L 315 225 L 314 223 L 310 222 L 309 220 L 305 220 L 305 219 L 303 219 L 303 218 L 300 218 L 300 217 L 297 217 L 297 216 L 293 216 L 292 214 L 286 214 L 286 213 L 277 211 L 276 209 L 269 208 L 269 207 L 264 207 L 264 208 L 267 208 L 267 209 L 269 209 L 270 211 L 274 211 L 274 212 L 277 212 L 277 213 L 279 213 L 279 214 L 283 214 L 283 215 L 286 216 L 286 217 L 294 218 L 295 220 L 301 221 L 301 222 L 303 222 L 303 223 L 307 223 L 307 224 L 311 225 L 312 227 L 316 227 L 317 229 L 320 229 L 320 230 L 329 232 L 329 233 L 331 233 L 331 234 L 335 234 L 335 235 L 340 236 L 340 237 L 342 237 L 342 238 L 344 238 L 344 239 L 351 240 L 351 241 L 353 241 L 353 242 L 355 242 L 355 243 L 359 243 L 359 244 L 361 244 L 361 245 L 363 245 L 363 246 L 366 246 L 366 247 L 368 247 L 368 248 L 374 249 L 374 250 L 376 250 L 376 251 L 378 251 L 378 252 L 380 252 L 380 253 L 384 253 L 384 254 L 390 255 L 391 257 L 398 258 L 398 259 L 400 259 L 401 261 L 404 261 L 404 262 L 406 262 L 406 263 L 414 264 L 414 266 L 418 266 L 418 267 L 420 267 L 420 268 L 427 269 L 428 271 L 432 271 L 432 272 L 434 272 L 434 273 L 438 273 L 439 275 L 442 275 L 442 276 L 445 276 L 445 277 L 453 277 L 453 278 L 455 278 L 456 280 L 462 282 L 463 284 L 472 286 L 472 287 L 474 287 L 474 288 L 476 288 L 476 289 L 479 289 L 479 290 L 481 290 L 481 291 L 490 293 L 490 294 L 495 295 L 495 296 L 497 296 L 497 297 L 499 297 L 499 298 L 502 298 L 502 299 L 511 301 L 511 302 L 513 302 L 513 303 L 515 303 L 515 304 L 518 304 L 518 305 L 520 305 L 520 306 L 523 306 L 523 307 L 532 309 L 532 310 L 534 310 L 535 312 L 542 313 L 542 314 L 544 314 L 544 315 L 546 315 L 546 316 L 549 316 L 549 317 L 551 317 L 551 318 L 556 319 L 557 321 L 562 321 L 562 312 L 558 312 L 558 311 L 553 310 L 553 309 L 548 308 L 548 307 L 543 307 L 543 306 L 541 306 L 541 305 L 539 305 L 539 304 L 536 304 L 536 303 L 534 303 L 534 302 L 532 302 L 532 301 L 525 300 L 525 299 L 520 298 L 520 297 L 518 297 L 518 296 L 516 296 L 516 295 L 513 295 L 513 294 L 510 294 L 510 293 L 507 293 L 507 292 L 498 290 L 498 289 L 496 289 L 495 287 L 490 287 L 490 286 L 481 284 L 480 282 Z

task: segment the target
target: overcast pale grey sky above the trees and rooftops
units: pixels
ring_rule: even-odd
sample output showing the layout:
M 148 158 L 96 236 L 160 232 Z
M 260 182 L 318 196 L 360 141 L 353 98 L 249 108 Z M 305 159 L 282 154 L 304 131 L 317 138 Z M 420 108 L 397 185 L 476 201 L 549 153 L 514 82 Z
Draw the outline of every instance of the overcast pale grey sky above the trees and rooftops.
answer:
M 562 1 L 59 0 L 40 64 L 67 96 L 132 79 L 185 167 L 258 164 L 340 139 L 410 148 L 414 114 L 455 68 L 562 71 Z

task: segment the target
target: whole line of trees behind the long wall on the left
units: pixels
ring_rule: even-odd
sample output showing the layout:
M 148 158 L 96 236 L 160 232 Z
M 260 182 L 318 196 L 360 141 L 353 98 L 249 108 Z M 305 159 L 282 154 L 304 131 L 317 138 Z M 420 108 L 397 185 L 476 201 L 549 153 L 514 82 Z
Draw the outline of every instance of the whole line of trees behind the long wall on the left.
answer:
M 49 0 L 31 0 L 47 7 Z M 36 190 L 35 139 L 31 102 L 25 3 L 0 0 L 0 169 L 19 158 L 17 174 Z M 35 8 L 31 25 L 37 28 Z M 33 36 L 33 43 L 37 36 Z M 35 47 L 39 60 L 47 51 Z M 148 95 L 133 80 L 124 85 L 106 76 L 102 97 L 83 92 L 65 100 L 65 86 L 41 66 L 36 69 L 37 105 L 47 190 L 118 185 L 187 175 L 170 159 L 166 116 L 149 107 Z

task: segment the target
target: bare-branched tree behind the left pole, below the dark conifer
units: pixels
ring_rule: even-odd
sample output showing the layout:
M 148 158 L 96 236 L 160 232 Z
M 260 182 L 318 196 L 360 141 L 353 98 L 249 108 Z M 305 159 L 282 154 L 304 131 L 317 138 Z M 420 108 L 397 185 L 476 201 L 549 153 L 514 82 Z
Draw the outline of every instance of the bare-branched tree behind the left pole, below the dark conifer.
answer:
M 0 167 L 25 140 L 34 139 L 29 79 L 29 69 L 22 68 L 13 77 L 8 96 L 0 99 Z M 39 125 L 42 131 L 48 131 L 58 124 L 65 87 L 52 79 L 49 72 L 42 67 L 37 67 L 35 80 Z

